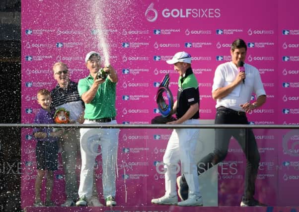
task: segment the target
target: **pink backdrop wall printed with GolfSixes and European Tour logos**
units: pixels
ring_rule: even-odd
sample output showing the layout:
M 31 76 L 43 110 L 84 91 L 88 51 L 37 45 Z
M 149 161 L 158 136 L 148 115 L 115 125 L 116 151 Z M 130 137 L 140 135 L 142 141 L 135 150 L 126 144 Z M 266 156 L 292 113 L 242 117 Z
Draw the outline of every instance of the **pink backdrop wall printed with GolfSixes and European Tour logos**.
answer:
M 119 124 L 150 124 L 158 113 L 155 94 L 165 73 L 170 74 L 170 88 L 176 95 L 178 75 L 165 61 L 179 51 L 193 57 L 201 119 L 214 119 L 214 71 L 230 61 L 231 42 L 242 38 L 248 43 L 246 62 L 259 69 L 268 97 L 262 108 L 248 115 L 251 124 L 299 124 L 299 25 L 294 21 L 299 19 L 298 1 L 273 0 L 270 6 L 260 0 L 241 5 L 223 0 L 100 2 L 22 0 L 22 123 L 32 123 L 39 110 L 37 90 L 56 85 L 53 64 L 66 63 L 72 80 L 77 81 L 88 74 L 84 58 L 93 50 L 108 53 L 104 59 L 118 71 Z M 31 132 L 22 130 L 22 207 L 32 205 L 34 199 L 36 142 Z M 294 185 L 298 185 L 299 161 L 283 151 L 287 132 L 255 131 L 261 153 L 256 196 L 273 206 L 298 205 Z M 162 160 L 169 134 L 169 130 L 121 130 L 119 205 L 150 205 L 151 198 L 163 194 L 163 175 L 154 164 Z M 290 136 L 290 142 L 298 140 L 298 133 Z M 296 145 L 288 148 L 299 153 Z M 232 169 L 220 175 L 219 205 L 238 205 L 243 191 L 243 153 L 234 141 L 229 149 L 232 153 L 226 161 L 237 164 L 238 171 L 228 167 Z M 99 191 L 100 172 L 96 170 Z M 57 204 L 64 200 L 60 196 L 65 197 L 63 178 L 61 169 L 54 190 L 58 195 L 53 197 Z

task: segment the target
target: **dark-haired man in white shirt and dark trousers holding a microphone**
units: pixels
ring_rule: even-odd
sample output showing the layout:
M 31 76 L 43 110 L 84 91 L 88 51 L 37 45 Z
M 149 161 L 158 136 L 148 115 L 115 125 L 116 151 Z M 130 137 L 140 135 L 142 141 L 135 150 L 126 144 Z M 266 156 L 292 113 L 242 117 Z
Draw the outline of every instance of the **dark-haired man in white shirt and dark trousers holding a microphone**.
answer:
M 266 92 L 259 71 L 249 64 L 243 64 L 246 51 L 247 46 L 242 39 L 233 41 L 230 49 L 231 61 L 219 65 L 215 71 L 212 87 L 213 99 L 217 100 L 215 124 L 248 124 L 246 113 L 266 102 Z M 250 102 L 252 92 L 257 96 L 254 102 Z M 245 192 L 240 206 L 265 206 L 254 199 L 260 155 L 251 129 L 248 129 L 247 138 L 244 129 L 215 129 L 214 152 L 199 161 L 198 174 L 225 159 L 232 136 L 238 141 L 247 159 Z M 177 184 L 179 196 L 187 199 L 188 185 L 184 176 L 178 177 Z

